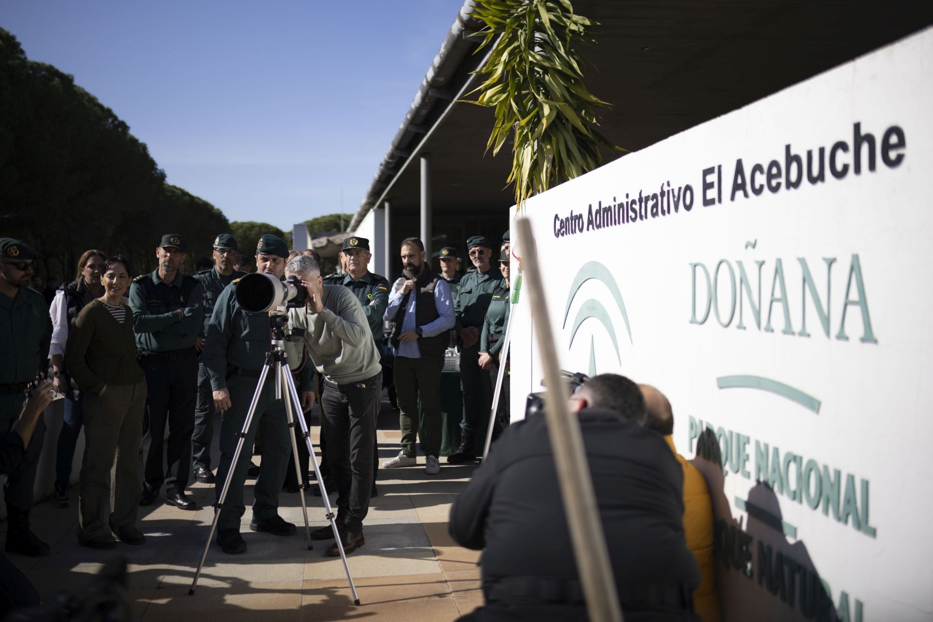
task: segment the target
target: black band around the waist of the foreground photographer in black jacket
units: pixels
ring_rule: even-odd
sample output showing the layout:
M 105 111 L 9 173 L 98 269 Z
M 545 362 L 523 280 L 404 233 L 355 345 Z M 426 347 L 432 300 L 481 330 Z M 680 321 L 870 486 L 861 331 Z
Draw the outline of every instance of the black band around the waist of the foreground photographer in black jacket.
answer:
M 617 586 L 623 607 L 633 609 L 693 609 L 693 592 L 684 584 L 627 583 Z M 483 592 L 487 602 L 552 602 L 583 604 L 583 586 L 577 579 L 545 576 L 509 576 L 486 581 Z

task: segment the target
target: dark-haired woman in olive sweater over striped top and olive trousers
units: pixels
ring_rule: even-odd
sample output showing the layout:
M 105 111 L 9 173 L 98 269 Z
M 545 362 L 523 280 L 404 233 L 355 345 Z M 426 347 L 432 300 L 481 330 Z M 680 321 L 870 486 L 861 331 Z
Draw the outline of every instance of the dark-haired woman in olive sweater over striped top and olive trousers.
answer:
M 111 532 L 129 545 L 146 542 L 136 529 L 146 376 L 136 361 L 132 311 L 122 301 L 130 289 L 130 274 L 125 257 L 107 260 L 104 296 L 78 314 L 65 354 L 68 371 L 85 394 L 77 542 L 94 548 L 114 546 Z M 111 499 L 110 517 L 104 523 Z

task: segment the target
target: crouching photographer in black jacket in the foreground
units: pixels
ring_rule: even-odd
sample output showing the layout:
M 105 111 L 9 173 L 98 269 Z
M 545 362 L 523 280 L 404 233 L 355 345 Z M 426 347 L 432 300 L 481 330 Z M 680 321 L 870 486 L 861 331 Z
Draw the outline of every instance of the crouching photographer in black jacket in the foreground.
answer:
M 579 417 L 626 622 L 696 620 L 700 575 L 684 541 L 683 474 L 663 437 L 641 427 L 647 409 L 638 385 L 603 374 L 569 407 Z M 450 524 L 458 544 L 484 549 L 486 604 L 462 619 L 587 618 L 544 417 L 513 423 L 499 437 Z

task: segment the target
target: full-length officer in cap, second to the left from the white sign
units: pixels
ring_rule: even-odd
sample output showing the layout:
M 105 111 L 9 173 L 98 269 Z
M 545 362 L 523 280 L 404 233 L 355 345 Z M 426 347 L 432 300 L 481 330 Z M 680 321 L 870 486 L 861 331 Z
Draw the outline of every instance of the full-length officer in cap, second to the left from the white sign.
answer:
M 476 235 L 466 241 L 470 261 L 475 270 L 460 279 L 459 292 L 453 311 L 454 329 L 460 338 L 460 386 L 464 393 L 464 417 L 460 423 L 460 446 L 447 457 L 448 463 L 474 460 L 473 442 L 477 422 L 493 406 L 493 388 L 489 373 L 480 368 L 480 329 L 493 292 L 502 280 L 502 273 L 491 263 L 492 243 Z

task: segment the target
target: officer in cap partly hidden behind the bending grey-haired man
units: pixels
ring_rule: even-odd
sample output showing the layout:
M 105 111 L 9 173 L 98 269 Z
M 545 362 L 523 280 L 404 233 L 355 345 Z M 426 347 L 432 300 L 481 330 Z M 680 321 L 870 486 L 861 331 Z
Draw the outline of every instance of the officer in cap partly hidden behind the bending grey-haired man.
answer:
M 384 276 L 369 271 L 369 259 L 372 258 L 372 254 L 369 252 L 369 240 L 366 238 L 351 236 L 345 239 L 341 253 L 344 257 L 346 275 L 342 280 L 333 284 L 349 287 L 359 303 L 363 305 L 363 313 L 366 315 L 369 330 L 372 332 L 372 339 L 376 343 L 376 349 L 379 350 L 380 363 L 382 363 L 384 356 L 383 315 L 385 308 L 389 305 L 389 281 Z M 379 444 L 376 442 L 372 446 L 371 496 L 378 494 L 375 483 L 378 473 Z

